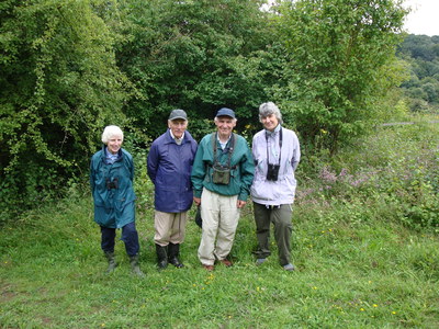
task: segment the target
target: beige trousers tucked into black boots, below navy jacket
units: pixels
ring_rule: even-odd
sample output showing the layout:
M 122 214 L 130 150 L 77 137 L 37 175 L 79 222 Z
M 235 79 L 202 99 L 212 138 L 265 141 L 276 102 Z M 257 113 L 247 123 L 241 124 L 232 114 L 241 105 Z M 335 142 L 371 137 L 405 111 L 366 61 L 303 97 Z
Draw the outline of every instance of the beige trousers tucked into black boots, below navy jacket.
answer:
M 184 241 L 185 223 L 188 212 L 184 213 L 162 213 L 155 211 L 154 228 L 156 235 L 154 241 L 161 247 L 168 246 L 169 242 L 179 245 Z

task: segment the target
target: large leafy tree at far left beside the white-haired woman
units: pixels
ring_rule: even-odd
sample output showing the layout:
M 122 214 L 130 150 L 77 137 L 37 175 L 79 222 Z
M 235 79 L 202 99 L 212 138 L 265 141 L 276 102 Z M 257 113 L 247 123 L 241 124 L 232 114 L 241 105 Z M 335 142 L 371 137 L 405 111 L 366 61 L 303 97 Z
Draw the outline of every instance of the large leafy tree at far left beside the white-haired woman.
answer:
M 80 174 L 127 79 L 92 0 L 0 3 L 0 201 L 35 202 Z

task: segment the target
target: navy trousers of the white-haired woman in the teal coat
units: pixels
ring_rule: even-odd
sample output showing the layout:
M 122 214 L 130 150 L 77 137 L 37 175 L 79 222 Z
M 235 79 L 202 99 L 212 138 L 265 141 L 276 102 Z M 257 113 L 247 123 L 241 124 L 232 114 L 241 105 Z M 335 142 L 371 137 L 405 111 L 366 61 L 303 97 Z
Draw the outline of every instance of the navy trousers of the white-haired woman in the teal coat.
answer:
M 104 252 L 114 252 L 115 237 L 115 228 L 101 226 L 101 248 Z M 121 240 L 125 242 L 125 250 L 128 256 L 136 256 L 138 253 L 138 234 L 134 222 L 122 227 Z

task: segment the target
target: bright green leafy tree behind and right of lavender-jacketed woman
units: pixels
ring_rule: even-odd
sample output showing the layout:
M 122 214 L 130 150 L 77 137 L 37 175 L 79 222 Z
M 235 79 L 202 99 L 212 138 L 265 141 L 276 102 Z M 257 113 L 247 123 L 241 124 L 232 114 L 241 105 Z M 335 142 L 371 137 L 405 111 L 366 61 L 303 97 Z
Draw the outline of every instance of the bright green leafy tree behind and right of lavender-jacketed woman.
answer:
M 281 1 L 279 39 L 290 56 L 282 102 L 305 145 L 335 152 L 376 117 L 376 102 L 401 83 L 395 58 L 406 14 L 401 3 Z

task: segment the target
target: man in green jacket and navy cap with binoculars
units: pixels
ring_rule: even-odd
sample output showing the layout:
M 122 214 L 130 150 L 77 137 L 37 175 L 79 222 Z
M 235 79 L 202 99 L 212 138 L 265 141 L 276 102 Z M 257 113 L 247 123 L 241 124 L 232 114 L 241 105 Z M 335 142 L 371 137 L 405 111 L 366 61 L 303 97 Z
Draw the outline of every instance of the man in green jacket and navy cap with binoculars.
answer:
M 217 131 L 200 141 L 191 174 L 193 201 L 203 218 L 199 259 L 207 271 L 215 259 L 232 266 L 228 254 L 255 170 L 246 139 L 233 133 L 235 112 L 223 107 L 214 121 Z

